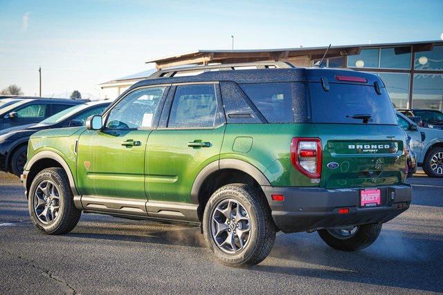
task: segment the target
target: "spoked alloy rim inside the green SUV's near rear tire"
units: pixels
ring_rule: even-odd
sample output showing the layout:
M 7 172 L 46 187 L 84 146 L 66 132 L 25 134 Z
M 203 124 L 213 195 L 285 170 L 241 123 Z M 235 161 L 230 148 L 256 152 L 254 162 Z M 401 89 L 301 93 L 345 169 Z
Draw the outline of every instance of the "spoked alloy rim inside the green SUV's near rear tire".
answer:
M 251 219 L 241 202 L 222 200 L 213 209 L 210 221 L 211 236 L 219 249 L 236 254 L 246 247 L 251 234 Z

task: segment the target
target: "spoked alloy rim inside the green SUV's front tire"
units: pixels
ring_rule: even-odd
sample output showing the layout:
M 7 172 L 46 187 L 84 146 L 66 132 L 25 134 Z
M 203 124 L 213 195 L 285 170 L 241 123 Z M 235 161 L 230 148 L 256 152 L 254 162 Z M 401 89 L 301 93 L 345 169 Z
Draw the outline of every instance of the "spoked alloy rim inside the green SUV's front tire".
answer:
M 54 182 L 43 180 L 37 186 L 33 197 L 34 212 L 45 225 L 53 223 L 59 215 L 60 193 Z

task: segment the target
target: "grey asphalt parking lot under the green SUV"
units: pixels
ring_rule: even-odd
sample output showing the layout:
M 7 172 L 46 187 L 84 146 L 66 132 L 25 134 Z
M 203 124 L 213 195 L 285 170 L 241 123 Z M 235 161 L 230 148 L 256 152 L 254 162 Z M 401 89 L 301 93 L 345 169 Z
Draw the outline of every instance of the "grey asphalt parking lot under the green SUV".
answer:
M 413 205 L 363 251 L 314 234 L 278 234 L 251 269 L 217 263 L 198 228 L 83 214 L 65 236 L 28 218 L 19 180 L 0 175 L 0 292 L 361 293 L 443 292 L 443 180 L 419 172 Z

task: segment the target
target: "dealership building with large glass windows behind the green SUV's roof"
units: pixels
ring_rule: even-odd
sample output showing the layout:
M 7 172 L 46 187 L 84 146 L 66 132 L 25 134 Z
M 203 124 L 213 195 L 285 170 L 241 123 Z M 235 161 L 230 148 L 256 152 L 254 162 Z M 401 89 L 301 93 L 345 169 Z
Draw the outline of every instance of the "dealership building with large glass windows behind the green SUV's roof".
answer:
M 157 69 L 186 65 L 232 64 L 249 61 L 289 61 L 312 66 L 327 47 L 265 50 L 197 50 L 150 59 Z M 443 111 L 443 41 L 332 46 L 323 66 L 350 68 L 379 75 L 396 108 L 431 108 Z M 100 84 L 106 98 L 115 99 L 154 70 Z

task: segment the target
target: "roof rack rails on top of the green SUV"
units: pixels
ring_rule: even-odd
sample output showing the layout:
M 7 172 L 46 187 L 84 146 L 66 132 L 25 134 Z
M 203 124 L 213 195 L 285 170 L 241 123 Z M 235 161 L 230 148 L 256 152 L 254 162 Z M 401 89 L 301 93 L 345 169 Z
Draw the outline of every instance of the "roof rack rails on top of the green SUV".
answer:
M 187 66 L 183 68 L 166 68 L 163 70 L 158 70 L 147 79 L 154 79 L 160 77 L 174 77 L 177 73 L 183 72 L 198 72 L 198 71 L 210 71 L 210 70 L 236 70 L 236 68 L 295 68 L 293 64 L 288 61 L 257 61 L 257 62 L 245 62 L 239 64 L 211 64 L 208 66 Z

